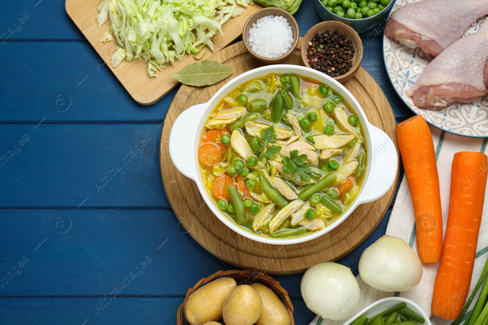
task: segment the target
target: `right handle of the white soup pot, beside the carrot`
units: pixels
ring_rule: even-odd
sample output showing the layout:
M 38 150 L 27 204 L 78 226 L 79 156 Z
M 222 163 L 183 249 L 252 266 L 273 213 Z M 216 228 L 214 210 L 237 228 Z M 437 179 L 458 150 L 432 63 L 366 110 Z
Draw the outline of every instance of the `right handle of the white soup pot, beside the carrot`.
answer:
M 370 145 L 367 148 L 368 180 L 361 191 L 358 203 L 367 203 L 379 199 L 391 188 L 398 171 L 398 153 L 393 141 L 381 129 L 368 126 Z

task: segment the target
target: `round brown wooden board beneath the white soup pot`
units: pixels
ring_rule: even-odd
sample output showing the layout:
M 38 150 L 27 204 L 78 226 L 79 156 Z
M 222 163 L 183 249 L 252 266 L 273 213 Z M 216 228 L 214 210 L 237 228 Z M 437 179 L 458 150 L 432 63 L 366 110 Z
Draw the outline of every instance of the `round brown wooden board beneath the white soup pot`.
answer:
M 224 48 L 210 59 L 232 67 L 233 74 L 207 87 L 182 85 L 169 107 L 161 134 L 160 167 L 164 191 L 180 225 L 221 260 L 240 268 L 257 269 L 270 274 L 303 272 L 315 264 L 335 261 L 356 248 L 385 215 L 395 193 L 398 173 L 395 183 L 385 196 L 360 205 L 335 229 L 305 243 L 279 246 L 255 242 L 227 228 L 205 205 L 195 183 L 174 167 L 169 157 L 168 139 L 176 117 L 188 107 L 208 101 L 235 76 L 264 65 L 246 52 L 243 42 Z M 301 65 L 300 48 L 281 63 Z M 357 98 L 368 120 L 390 134 L 397 145 L 394 136 L 395 116 L 374 79 L 361 67 L 345 86 Z

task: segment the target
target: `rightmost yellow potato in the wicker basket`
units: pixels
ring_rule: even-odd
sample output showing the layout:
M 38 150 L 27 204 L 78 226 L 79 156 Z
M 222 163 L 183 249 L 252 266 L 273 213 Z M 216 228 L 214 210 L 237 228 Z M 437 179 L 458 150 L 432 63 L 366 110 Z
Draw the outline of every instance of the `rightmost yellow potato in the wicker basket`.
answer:
M 280 298 L 270 288 L 261 283 L 253 283 L 251 287 L 261 296 L 263 300 L 263 312 L 256 322 L 256 325 L 290 325 L 288 309 L 281 302 Z

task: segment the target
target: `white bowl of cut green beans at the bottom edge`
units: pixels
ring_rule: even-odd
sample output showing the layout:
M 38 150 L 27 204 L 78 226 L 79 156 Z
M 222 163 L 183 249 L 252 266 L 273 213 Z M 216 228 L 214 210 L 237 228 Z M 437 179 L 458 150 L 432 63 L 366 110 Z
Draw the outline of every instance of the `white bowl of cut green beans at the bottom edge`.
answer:
M 431 325 L 426 313 L 413 301 L 388 297 L 367 306 L 344 325 Z

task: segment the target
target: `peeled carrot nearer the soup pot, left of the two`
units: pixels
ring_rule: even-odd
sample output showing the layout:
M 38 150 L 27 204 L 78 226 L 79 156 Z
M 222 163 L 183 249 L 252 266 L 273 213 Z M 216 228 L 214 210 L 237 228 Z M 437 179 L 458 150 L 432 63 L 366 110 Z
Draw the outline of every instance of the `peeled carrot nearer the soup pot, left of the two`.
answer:
M 412 197 L 417 249 L 422 263 L 437 263 L 442 252 L 442 207 L 432 134 L 422 115 L 397 125 L 403 167 Z

